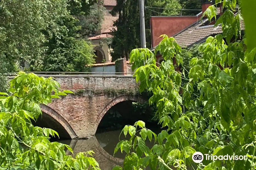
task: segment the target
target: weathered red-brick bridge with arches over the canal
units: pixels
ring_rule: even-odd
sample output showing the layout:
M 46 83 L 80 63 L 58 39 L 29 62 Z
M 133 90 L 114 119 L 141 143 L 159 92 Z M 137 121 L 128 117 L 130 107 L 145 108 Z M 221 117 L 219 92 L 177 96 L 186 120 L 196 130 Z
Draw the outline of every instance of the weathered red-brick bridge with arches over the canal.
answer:
M 132 76 L 51 76 L 59 82 L 61 90 L 75 94 L 54 99 L 48 106 L 41 105 L 43 115 L 36 125 L 55 129 L 62 138 L 93 137 L 112 106 L 128 100 L 143 102 L 135 95 L 138 84 Z

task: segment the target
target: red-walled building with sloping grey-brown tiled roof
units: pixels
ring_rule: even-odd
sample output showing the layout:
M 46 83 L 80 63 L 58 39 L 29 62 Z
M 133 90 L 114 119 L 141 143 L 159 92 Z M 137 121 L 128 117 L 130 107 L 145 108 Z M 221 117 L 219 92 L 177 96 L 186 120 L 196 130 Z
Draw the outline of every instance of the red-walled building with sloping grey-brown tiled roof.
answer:
M 215 36 L 222 33 L 221 25 L 214 27 L 215 20 L 209 21 L 204 16 L 201 21 L 201 16 L 205 10 L 212 5 L 211 2 L 202 4 L 202 12 L 196 16 L 152 16 L 150 17 L 151 27 L 151 46 L 152 51 L 159 44 L 162 38 L 159 36 L 166 34 L 169 37 L 174 37 L 181 47 L 192 47 L 195 44 L 205 42 L 209 36 Z M 237 7 L 238 8 L 238 7 Z M 235 12 L 236 13 L 236 12 Z M 217 7 L 218 19 L 223 14 L 222 5 Z M 244 24 L 241 22 L 241 29 L 244 29 Z M 157 54 L 157 62 L 162 62 L 162 56 Z M 174 61 L 175 64 L 175 61 Z

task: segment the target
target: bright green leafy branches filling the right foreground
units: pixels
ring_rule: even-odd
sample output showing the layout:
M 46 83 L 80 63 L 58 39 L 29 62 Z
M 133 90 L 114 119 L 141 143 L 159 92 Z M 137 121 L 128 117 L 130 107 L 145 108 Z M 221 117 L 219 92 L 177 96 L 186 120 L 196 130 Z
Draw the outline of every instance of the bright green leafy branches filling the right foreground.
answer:
M 124 170 L 145 167 L 152 170 L 256 168 L 256 48 L 247 49 L 247 45 L 254 47 L 253 44 L 247 44 L 245 37 L 238 39 L 242 16 L 233 13 L 236 1 L 224 2 L 226 10 L 215 24 L 222 24 L 223 33 L 208 37 L 200 46 L 203 56 L 191 59 L 188 78 L 174 71 L 174 56 L 178 65 L 182 65 L 183 59 L 182 50 L 173 37 L 163 35 L 156 48 L 165 60 L 160 67 L 156 67 L 156 59 L 150 50 L 132 50 L 130 61 L 135 65 L 134 76 L 140 82 L 139 90 L 153 93 L 149 103 L 156 104 L 159 123 L 168 130 L 156 135 L 141 121 L 134 126 L 125 126 L 122 133 L 125 136 L 129 133 L 130 139 L 120 141 L 115 148 L 115 152 L 120 149 L 127 153 Z M 205 14 L 209 20 L 215 18 L 215 6 L 210 6 L 203 16 Z M 188 80 L 183 87 L 181 78 Z M 200 92 L 198 95 L 194 94 L 194 85 Z M 181 95 L 180 88 L 183 90 Z M 136 131 L 140 132 L 139 136 L 135 135 Z M 152 148 L 145 145 L 147 138 L 150 141 L 154 138 Z M 195 164 L 192 154 L 196 151 L 216 156 L 234 154 L 247 157 L 245 160 L 204 159 Z

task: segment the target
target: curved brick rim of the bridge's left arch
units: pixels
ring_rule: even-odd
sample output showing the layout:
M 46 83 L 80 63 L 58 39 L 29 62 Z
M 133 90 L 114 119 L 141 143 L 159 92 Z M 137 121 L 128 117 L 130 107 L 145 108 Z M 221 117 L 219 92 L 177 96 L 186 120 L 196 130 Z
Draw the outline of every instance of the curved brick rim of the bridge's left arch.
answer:
M 75 139 L 77 137 L 75 131 L 73 130 L 73 128 L 71 127 L 69 122 L 63 116 L 61 116 L 61 114 L 57 113 L 55 110 L 53 110 L 49 106 L 46 106 L 43 104 L 40 105 L 40 108 L 41 108 L 42 112 L 48 114 L 53 119 L 55 119 L 57 122 L 59 122 L 61 124 L 61 126 L 63 126 L 63 128 L 67 131 L 67 133 L 69 134 L 71 139 Z

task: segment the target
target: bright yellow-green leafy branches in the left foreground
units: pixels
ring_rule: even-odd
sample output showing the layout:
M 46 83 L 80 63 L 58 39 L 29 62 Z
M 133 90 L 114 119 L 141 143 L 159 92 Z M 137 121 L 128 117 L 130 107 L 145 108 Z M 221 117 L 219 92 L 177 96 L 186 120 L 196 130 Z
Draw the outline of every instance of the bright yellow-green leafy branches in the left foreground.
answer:
M 52 98 L 66 93 L 73 92 L 60 92 L 59 83 L 51 77 L 20 72 L 11 80 L 8 94 L 0 93 L 1 169 L 99 170 L 91 157 L 93 151 L 79 153 L 75 158 L 67 156 L 65 148 L 73 153 L 70 146 L 49 141 L 51 136 L 58 136 L 56 131 L 32 125 L 31 120 L 42 114 L 40 104 L 47 105 Z

